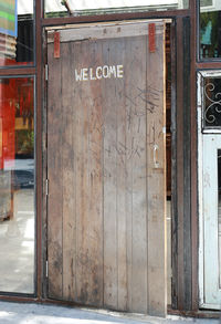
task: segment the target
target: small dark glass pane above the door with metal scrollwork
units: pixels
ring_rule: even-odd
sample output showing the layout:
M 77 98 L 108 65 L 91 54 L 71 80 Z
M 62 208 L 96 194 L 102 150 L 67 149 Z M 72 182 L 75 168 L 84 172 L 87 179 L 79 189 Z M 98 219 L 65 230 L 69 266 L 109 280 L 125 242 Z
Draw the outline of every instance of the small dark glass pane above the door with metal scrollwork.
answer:
M 221 1 L 200 0 L 200 59 L 221 58 Z

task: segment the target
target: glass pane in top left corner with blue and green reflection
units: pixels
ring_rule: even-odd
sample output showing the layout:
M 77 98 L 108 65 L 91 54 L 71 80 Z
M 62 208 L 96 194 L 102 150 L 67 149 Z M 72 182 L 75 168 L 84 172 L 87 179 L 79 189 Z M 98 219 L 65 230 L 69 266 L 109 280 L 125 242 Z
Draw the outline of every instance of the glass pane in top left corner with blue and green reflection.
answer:
M 33 0 L 0 0 L 0 66 L 34 60 Z

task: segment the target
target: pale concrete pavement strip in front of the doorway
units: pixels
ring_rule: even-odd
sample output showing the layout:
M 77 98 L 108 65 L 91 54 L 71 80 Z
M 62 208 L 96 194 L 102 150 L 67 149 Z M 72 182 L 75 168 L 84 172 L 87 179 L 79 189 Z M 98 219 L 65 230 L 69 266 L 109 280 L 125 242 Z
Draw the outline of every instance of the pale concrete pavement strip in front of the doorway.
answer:
M 2 324 L 220 324 L 219 320 L 198 320 L 168 316 L 150 317 L 139 314 L 124 314 L 87 309 L 63 307 L 24 303 L 0 302 L 0 323 Z

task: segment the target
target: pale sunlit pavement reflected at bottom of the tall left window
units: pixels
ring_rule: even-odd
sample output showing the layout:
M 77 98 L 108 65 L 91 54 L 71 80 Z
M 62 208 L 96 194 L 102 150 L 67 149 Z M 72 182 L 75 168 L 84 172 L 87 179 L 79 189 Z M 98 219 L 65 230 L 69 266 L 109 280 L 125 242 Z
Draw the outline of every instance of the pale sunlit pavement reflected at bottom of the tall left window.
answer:
M 14 191 L 13 218 L 0 222 L 0 291 L 34 292 L 34 190 Z

